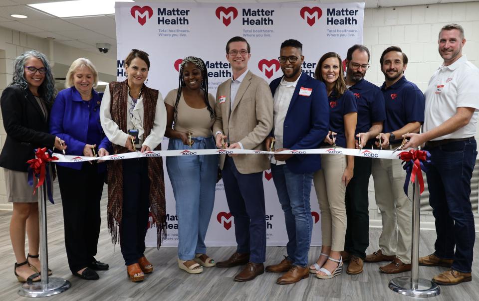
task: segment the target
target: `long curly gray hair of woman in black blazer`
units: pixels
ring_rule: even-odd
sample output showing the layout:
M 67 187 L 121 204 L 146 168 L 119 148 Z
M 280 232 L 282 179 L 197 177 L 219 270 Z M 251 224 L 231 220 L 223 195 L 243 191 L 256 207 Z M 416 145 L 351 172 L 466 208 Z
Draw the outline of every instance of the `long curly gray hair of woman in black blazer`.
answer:
M 51 73 L 50 63 L 46 59 L 46 56 L 41 52 L 38 52 L 36 50 L 28 50 L 20 54 L 13 61 L 13 76 L 11 83 L 8 84 L 8 86 L 16 85 L 19 86 L 21 89 L 28 89 L 28 82 L 25 79 L 25 63 L 31 57 L 39 59 L 46 69 L 45 79 L 38 88 L 38 94 L 41 98 L 43 98 L 45 103 L 49 107 L 51 107 L 53 101 L 55 100 L 55 95 L 57 92 L 55 89 L 55 79 L 53 78 L 53 74 Z

